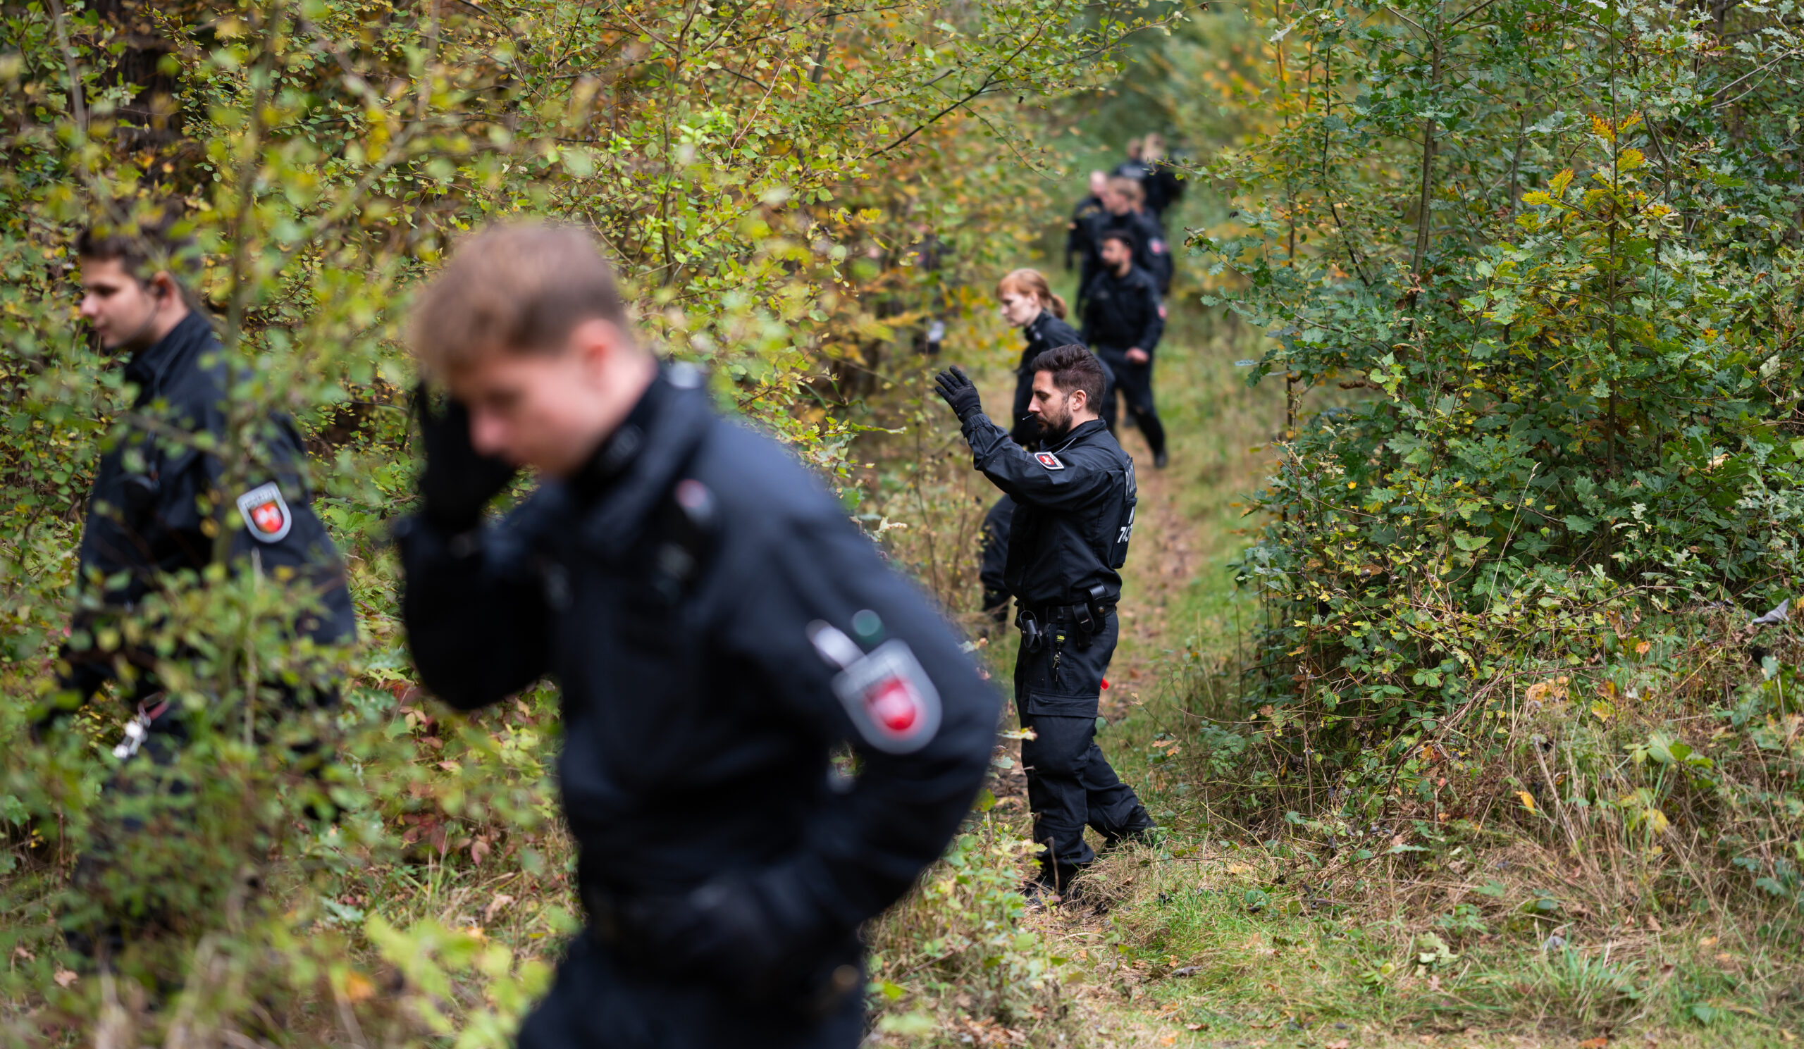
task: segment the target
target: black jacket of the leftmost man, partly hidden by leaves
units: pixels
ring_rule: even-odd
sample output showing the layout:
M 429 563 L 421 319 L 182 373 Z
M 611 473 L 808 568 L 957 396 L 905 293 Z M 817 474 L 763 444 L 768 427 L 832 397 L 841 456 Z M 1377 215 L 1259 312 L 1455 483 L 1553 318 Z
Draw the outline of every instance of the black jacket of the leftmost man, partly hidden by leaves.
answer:
M 150 669 L 148 652 L 108 651 L 96 642 L 108 620 L 182 571 L 215 561 L 215 535 L 227 534 L 233 570 L 254 564 L 272 579 L 310 588 L 294 629 L 318 642 L 346 642 L 357 620 L 345 566 L 314 515 L 305 449 L 292 420 L 271 415 L 253 431 L 249 476 L 227 478 L 216 454 L 188 434 L 227 442 L 227 377 L 213 326 L 189 314 L 124 366 L 137 388 L 126 424 L 101 452 L 81 532 L 81 604 L 63 645 L 61 680 L 79 699 L 115 672 L 121 656 Z M 171 436 L 177 434 L 177 436 Z M 161 689 L 137 680 L 135 698 Z

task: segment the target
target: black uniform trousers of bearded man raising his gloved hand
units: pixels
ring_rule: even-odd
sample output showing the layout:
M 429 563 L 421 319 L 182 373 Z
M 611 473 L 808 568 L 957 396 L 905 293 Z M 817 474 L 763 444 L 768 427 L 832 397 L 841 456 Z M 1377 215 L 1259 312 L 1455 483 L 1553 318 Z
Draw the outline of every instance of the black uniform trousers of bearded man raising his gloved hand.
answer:
M 1117 842 L 1153 826 L 1133 788 L 1124 784 L 1097 746 L 1102 674 L 1115 654 L 1120 624 L 1115 609 L 1095 634 L 1059 613 L 1041 613 L 1046 631 L 1039 651 L 1023 640 L 1016 654 L 1016 712 L 1034 739 L 1021 741 L 1034 840 L 1046 845 L 1041 881 L 1059 890 L 1097 856 L 1084 842 L 1091 826 Z

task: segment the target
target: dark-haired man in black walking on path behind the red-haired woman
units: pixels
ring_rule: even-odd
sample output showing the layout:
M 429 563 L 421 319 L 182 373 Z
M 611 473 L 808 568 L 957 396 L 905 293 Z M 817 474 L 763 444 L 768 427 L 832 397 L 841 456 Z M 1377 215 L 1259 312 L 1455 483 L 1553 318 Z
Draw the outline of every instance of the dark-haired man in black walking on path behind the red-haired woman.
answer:
M 1165 332 L 1158 285 L 1133 265 L 1133 234 L 1102 234 L 1102 263 L 1084 294 L 1084 341 L 1115 373 L 1128 413 L 1153 449 L 1153 465 L 1165 469 L 1165 427 L 1153 407 L 1153 350 Z

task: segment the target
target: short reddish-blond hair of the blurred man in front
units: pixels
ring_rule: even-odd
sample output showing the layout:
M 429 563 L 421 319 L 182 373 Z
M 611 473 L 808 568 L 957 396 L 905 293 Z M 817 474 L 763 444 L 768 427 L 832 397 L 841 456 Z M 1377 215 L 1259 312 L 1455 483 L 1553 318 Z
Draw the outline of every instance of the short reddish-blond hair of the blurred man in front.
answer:
M 420 290 L 408 342 L 433 377 L 489 353 L 554 353 L 583 321 L 631 337 L 613 267 L 575 225 L 509 222 L 464 238 Z

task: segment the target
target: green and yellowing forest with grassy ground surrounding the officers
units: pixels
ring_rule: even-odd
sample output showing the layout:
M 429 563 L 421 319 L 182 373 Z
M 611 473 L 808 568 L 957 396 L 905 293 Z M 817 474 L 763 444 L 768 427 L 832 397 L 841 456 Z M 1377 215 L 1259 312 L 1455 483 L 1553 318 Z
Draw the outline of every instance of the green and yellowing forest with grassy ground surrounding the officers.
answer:
M 1082 916 L 1028 916 L 1021 813 L 985 795 L 871 930 L 873 1036 L 1131 1044 L 1099 1009 L 1156 1004 L 1196 1018 L 1173 1038 L 1270 1018 L 1330 1044 L 1348 1022 L 1782 1040 L 1804 1013 L 1804 717 L 1790 620 L 1753 620 L 1800 570 L 1799 16 L 9 5 L 5 1036 L 505 1044 L 577 926 L 556 698 L 449 716 L 395 622 L 386 535 L 417 469 L 399 319 L 462 231 L 594 227 L 648 335 L 960 616 L 987 490 L 924 379 L 1016 351 L 994 278 L 1055 265 L 1084 171 L 1162 132 L 1189 186 L 1189 362 L 1164 382 L 1281 389 L 1230 436 L 1266 470 L 1239 508 L 1234 615 L 1201 615 L 1223 573 L 1200 566 L 1171 609 L 1198 625 L 1135 656 L 1162 685 L 1106 737 L 1140 755 L 1167 838 L 1111 858 Z M 307 598 L 271 580 L 157 595 L 132 640 L 182 652 L 206 730 L 180 804 L 144 809 L 99 793 L 119 703 L 54 741 L 27 712 L 54 689 L 83 497 L 124 407 L 74 319 L 72 234 L 170 207 L 236 425 L 280 407 L 307 431 L 361 638 L 285 643 L 274 624 Z M 245 447 L 215 451 L 244 470 Z M 1209 490 L 1209 469 L 1180 456 L 1173 485 Z M 1001 669 L 1008 645 L 978 651 Z M 346 674 L 348 701 L 280 716 L 254 685 L 271 667 Z M 272 761 L 285 734 L 339 761 Z M 143 876 L 78 892 L 74 856 L 121 815 L 150 820 Z M 108 892 L 168 916 L 117 979 L 70 968 L 56 928 Z

